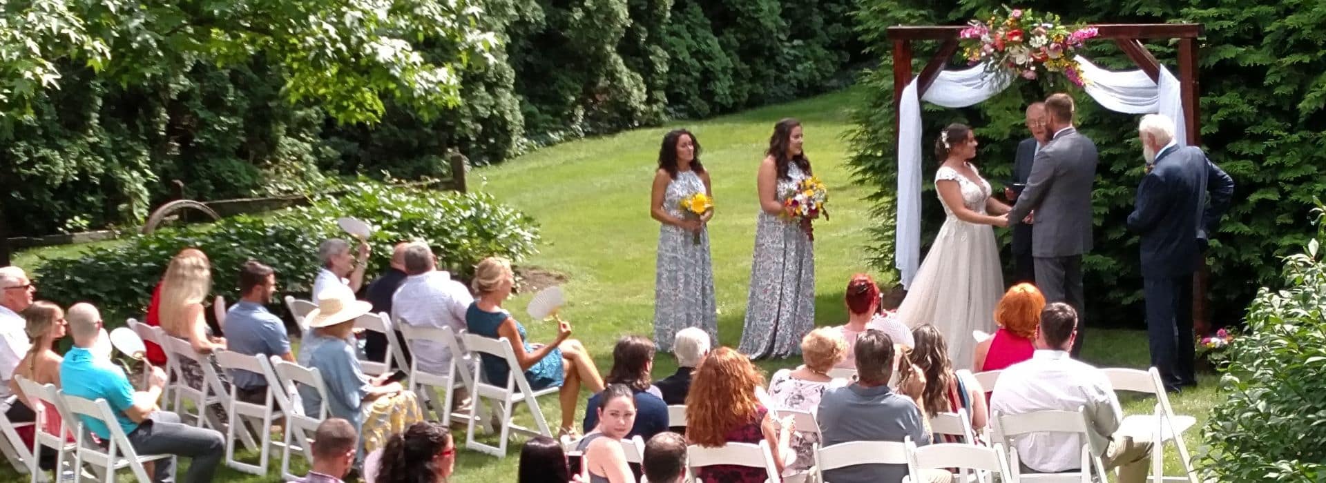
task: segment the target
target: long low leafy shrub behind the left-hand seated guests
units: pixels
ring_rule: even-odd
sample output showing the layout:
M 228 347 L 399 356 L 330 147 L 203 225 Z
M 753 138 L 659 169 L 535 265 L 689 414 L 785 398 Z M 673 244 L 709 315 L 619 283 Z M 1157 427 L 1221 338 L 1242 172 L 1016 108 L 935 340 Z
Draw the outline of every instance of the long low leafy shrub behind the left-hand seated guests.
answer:
M 488 255 L 516 261 L 534 253 L 538 232 L 525 214 L 489 195 L 434 192 L 358 183 L 349 195 L 273 214 L 240 216 L 216 224 L 164 229 L 129 238 L 115 247 L 93 247 L 82 257 L 49 259 L 33 274 L 40 298 L 61 304 L 89 300 L 106 320 L 141 316 L 166 265 L 180 249 L 196 246 L 212 261 L 213 292 L 235 300 L 239 266 L 252 258 L 271 265 L 282 294 L 308 298 L 318 270 L 317 246 L 345 237 L 338 217 L 367 221 L 377 230 L 369 278 L 387 269 L 399 241 L 427 241 L 439 269 L 468 278 Z

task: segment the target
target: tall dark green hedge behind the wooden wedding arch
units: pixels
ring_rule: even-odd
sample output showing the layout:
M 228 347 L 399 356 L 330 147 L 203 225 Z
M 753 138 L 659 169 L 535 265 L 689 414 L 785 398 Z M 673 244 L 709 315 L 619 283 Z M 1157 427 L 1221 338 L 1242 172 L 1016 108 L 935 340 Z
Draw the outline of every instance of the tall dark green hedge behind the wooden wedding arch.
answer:
M 989 0 L 963 1 L 944 11 L 918 0 L 886 0 L 863 5 L 857 19 L 871 52 L 888 57 L 891 45 L 884 37 L 888 25 L 960 24 L 977 11 L 998 5 Z M 1253 295 L 1249 282 L 1269 285 L 1277 278 L 1277 257 L 1306 242 L 1297 226 L 1305 214 L 1303 206 L 1314 196 L 1326 196 L 1326 184 L 1319 183 L 1322 167 L 1326 167 L 1326 151 L 1319 148 L 1326 143 L 1326 83 L 1321 69 L 1303 57 L 1319 50 L 1326 32 L 1293 26 L 1326 21 L 1326 4 L 1289 0 L 1248 8 L 1244 3 L 1211 7 L 1209 1 L 1184 0 L 1136 7 L 1135 3 L 1097 0 L 1085 4 L 1028 1 L 1020 7 L 1053 11 L 1067 22 L 1183 20 L 1205 25 L 1199 65 L 1203 148 L 1237 184 L 1233 205 L 1208 253 L 1211 318 L 1215 326 L 1237 323 Z M 918 49 L 914 73 L 920 71 L 937 44 L 914 42 Z M 1172 48 L 1166 42 L 1147 45 L 1162 62 L 1175 64 Z M 1093 41 L 1086 46 L 1085 56 L 1107 69 L 1135 69 L 1113 42 Z M 896 185 L 891 69 L 891 64 L 883 62 L 863 78 L 870 98 L 855 112 L 858 130 L 851 159 L 858 180 L 875 189 L 871 200 L 880 220 L 874 230 L 875 262 L 888 271 L 894 266 L 892 195 Z M 1268 81 L 1249 83 L 1246 79 Z M 1026 136 L 1021 127 L 1022 109 L 1045 94 L 1034 83 L 1020 82 L 972 109 L 926 105 L 924 139 L 934 139 L 947 123 L 975 126 L 981 142 L 977 157 L 981 172 L 998 187 L 1009 175 L 1017 142 Z M 1078 127 L 1101 151 L 1093 193 L 1095 249 L 1083 258 L 1090 320 L 1140 326 L 1144 316 L 1138 237 L 1124 229 L 1142 177 L 1138 118 L 1106 111 L 1081 91 L 1074 95 L 1078 98 Z M 935 161 L 927 159 L 923 169 L 932 172 Z M 943 214 L 930 183 L 926 184 L 923 240 L 930 241 Z M 997 232 L 1006 245 L 1008 232 Z M 1012 257 L 1004 259 L 1012 265 Z

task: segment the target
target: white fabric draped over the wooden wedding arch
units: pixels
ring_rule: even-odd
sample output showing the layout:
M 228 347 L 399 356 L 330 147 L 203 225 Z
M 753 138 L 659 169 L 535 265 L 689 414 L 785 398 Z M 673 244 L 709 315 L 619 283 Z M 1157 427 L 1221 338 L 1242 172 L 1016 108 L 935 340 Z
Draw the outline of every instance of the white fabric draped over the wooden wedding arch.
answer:
M 1152 82 L 1144 71 L 1110 71 L 1098 67 L 1082 56 L 1075 57 L 1087 81 L 1086 93 L 1101 106 L 1126 114 L 1160 112 L 1174 119 L 1175 138 L 1184 144 L 1185 126 L 1179 97 L 1179 81 L 1160 66 L 1160 82 Z M 902 275 L 903 287 L 910 287 L 920 267 L 920 191 L 922 191 L 922 123 L 920 101 L 944 107 L 967 107 L 984 102 L 1012 82 L 1010 75 L 998 75 L 979 65 L 963 70 L 943 70 L 926 90 L 916 95 L 916 78 L 903 89 L 898 105 L 898 218 L 894 225 L 894 265 Z

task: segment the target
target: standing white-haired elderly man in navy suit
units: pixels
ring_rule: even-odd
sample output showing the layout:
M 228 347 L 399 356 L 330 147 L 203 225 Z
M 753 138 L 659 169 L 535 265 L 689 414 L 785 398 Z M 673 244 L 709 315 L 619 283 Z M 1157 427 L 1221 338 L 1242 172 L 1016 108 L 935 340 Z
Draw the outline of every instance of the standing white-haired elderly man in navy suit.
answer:
M 1151 365 L 1166 389 L 1197 384 L 1193 371 L 1192 275 L 1199 240 L 1215 230 L 1229 206 L 1233 180 L 1200 148 L 1179 147 L 1174 120 L 1159 114 L 1142 118 L 1138 136 L 1147 175 L 1128 229 L 1142 237 L 1142 279 L 1146 295 Z M 1211 204 L 1205 201 L 1211 192 Z

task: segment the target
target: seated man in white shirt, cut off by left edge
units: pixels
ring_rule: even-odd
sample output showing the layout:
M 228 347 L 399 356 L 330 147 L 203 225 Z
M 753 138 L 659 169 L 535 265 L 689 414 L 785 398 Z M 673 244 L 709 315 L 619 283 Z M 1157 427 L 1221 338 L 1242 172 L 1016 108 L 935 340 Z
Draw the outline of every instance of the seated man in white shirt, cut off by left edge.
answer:
M 11 405 L 15 393 L 9 389 L 13 371 L 32 348 L 25 329 L 28 322 L 19 314 L 32 306 L 36 291 L 23 269 L 0 269 L 0 410 L 11 422 L 28 422 L 37 417 L 24 405 Z

